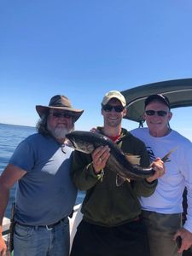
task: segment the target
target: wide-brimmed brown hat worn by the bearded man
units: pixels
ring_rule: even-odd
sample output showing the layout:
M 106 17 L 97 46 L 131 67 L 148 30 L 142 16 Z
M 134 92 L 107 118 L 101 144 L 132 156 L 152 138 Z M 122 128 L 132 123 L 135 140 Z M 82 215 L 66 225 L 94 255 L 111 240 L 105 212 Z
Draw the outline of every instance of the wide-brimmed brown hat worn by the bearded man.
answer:
M 49 106 L 42 106 L 42 105 L 37 105 L 36 110 L 38 112 L 38 115 L 40 118 L 46 114 L 49 113 L 50 108 L 55 108 L 55 109 L 62 109 L 66 110 L 69 112 L 71 115 L 73 115 L 73 120 L 74 122 L 79 119 L 81 114 L 84 112 L 83 109 L 76 109 L 72 107 L 71 102 L 67 98 L 67 96 L 61 96 L 61 95 L 55 95 L 50 99 Z

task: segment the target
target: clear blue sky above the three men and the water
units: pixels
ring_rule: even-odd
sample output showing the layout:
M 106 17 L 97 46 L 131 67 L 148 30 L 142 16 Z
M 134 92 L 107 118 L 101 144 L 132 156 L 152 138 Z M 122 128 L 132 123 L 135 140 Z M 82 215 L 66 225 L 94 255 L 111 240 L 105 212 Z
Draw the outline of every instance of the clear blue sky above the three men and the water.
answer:
M 191 14 L 191 0 L 1 0 L 0 123 L 34 126 L 35 105 L 62 94 L 90 130 L 108 90 L 192 78 Z M 191 112 L 171 125 L 192 140 Z

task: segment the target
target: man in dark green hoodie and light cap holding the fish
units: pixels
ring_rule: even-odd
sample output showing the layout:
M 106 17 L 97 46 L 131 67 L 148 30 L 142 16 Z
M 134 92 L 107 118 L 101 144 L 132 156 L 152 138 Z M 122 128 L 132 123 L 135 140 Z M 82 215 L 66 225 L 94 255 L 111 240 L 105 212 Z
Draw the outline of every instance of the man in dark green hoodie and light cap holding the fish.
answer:
M 121 127 L 125 105 L 125 97 L 119 91 L 109 91 L 102 100 L 104 125 L 96 131 L 117 143 L 125 154 L 139 155 L 140 165 L 147 167 L 144 143 Z M 165 172 L 163 162 L 154 161 L 153 177 L 126 180 L 117 186 L 118 177 L 106 167 L 109 154 L 108 147 L 96 148 L 91 155 L 74 151 L 73 181 L 79 189 L 86 190 L 86 195 L 71 256 L 148 256 L 147 232 L 137 197 L 153 194 L 157 177 Z

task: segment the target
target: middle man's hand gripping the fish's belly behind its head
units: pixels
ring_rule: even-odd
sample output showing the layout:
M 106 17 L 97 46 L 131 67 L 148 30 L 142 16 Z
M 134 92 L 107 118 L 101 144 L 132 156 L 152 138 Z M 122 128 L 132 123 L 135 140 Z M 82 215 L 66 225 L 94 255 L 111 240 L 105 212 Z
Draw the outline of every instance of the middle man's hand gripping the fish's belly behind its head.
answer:
M 96 148 L 91 154 L 93 160 L 93 167 L 96 173 L 101 172 L 102 169 L 106 166 L 106 162 L 110 155 L 109 151 L 110 148 L 108 148 L 108 146 L 101 146 Z

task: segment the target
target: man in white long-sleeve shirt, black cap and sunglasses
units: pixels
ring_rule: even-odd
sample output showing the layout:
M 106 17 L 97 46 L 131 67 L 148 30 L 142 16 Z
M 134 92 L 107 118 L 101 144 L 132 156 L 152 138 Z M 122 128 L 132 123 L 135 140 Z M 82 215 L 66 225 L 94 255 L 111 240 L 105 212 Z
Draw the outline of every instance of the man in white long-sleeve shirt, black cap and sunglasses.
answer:
M 159 178 L 154 194 L 141 198 L 151 256 L 181 255 L 192 244 L 192 143 L 170 128 L 172 113 L 166 96 L 148 96 L 144 119 L 148 128 L 138 128 L 131 133 L 146 144 L 151 160 L 163 157 L 174 148 L 166 162 L 166 174 Z M 185 187 L 188 212 L 182 227 Z M 177 248 L 177 236 L 182 239 L 180 248 Z

